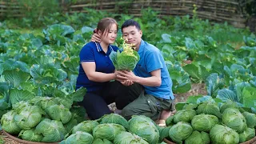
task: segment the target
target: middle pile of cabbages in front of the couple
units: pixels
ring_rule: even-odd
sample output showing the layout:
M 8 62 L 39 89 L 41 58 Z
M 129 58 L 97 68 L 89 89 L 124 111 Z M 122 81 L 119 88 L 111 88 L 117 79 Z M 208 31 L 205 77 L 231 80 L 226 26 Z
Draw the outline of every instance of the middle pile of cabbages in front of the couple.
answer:
M 145 116 L 133 116 L 129 121 L 118 114 L 106 114 L 95 121 L 74 126 L 61 144 L 158 144 L 159 126 Z M 164 142 L 162 142 L 163 144 Z

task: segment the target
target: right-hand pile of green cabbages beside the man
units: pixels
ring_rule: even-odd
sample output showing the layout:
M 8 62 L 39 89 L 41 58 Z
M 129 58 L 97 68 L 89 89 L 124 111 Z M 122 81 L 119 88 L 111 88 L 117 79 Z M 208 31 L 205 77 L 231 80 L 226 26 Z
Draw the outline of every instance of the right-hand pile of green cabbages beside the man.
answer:
M 186 104 L 166 119 L 162 138 L 185 144 L 236 144 L 255 137 L 256 115 L 234 102 Z

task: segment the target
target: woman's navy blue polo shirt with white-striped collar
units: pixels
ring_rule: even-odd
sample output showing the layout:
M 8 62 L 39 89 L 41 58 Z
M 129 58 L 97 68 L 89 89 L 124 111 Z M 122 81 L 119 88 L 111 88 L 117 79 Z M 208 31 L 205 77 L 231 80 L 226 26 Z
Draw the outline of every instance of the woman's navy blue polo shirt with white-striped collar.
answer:
M 82 47 L 80 51 L 79 74 L 76 84 L 76 89 L 86 87 L 87 91 L 101 90 L 106 82 L 93 82 L 88 79 L 85 71 L 82 69 L 82 62 L 95 62 L 96 71 L 110 74 L 114 73 L 114 65 L 110 60 L 111 51 L 117 51 L 117 46 L 109 46 L 107 52 L 102 50 L 102 46 L 98 42 L 89 42 Z

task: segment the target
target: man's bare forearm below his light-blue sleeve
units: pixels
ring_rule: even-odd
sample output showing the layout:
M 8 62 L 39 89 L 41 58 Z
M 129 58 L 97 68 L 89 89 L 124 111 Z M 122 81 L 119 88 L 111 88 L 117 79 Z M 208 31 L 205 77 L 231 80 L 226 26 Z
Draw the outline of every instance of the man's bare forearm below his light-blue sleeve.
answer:
M 133 82 L 137 82 L 144 86 L 161 86 L 162 84 L 161 78 L 158 78 L 156 76 L 151 76 L 148 78 L 142 78 L 142 77 L 136 76 Z

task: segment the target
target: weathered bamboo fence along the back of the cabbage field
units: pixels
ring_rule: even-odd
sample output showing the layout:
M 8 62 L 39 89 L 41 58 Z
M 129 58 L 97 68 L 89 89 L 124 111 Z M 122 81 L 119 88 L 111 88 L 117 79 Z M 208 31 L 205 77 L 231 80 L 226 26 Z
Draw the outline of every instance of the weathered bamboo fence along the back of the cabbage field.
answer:
M 158 11 L 159 16 L 196 14 L 199 18 L 207 18 L 215 22 L 229 22 L 237 27 L 245 27 L 246 17 L 243 6 L 254 0 L 80 0 L 77 3 L 67 3 L 59 0 L 63 12 L 86 13 L 85 8 L 105 10 L 107 12 L 122 14 L 128 12 L 134 16 L 142 16 L 141 11 L 147 7 Z M 23 17 L 22 6 L 17 2 L 0 2 L 0 17 Z

